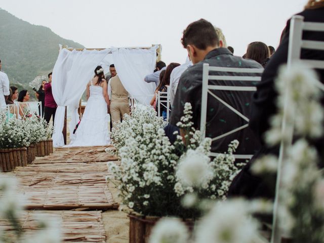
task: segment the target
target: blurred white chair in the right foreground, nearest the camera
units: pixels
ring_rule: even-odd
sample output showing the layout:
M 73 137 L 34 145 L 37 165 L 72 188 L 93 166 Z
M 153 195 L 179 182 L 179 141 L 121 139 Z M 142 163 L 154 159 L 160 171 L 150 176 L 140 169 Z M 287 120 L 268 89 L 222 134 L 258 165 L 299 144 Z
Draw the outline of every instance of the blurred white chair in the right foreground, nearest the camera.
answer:
M 291 19 L 290 25 L 290 35 L 289 35 L 289 48 L 288 48 L 288 60 L 287 66 L 291 67 L 294 63 L 302 63 L 307 67 L 324 69 L 323 60 L 306 60 L 301 59 L 301 49 L 309 50 L 322 50 L 324 51 L 324 42 L 319 41 L 309 41 L 303 40 L 302 35 L 303 31 L 321 31 L 324 35 L 324 23 L 315 23 L 315 22 L 304 22 L 303 16 L 293 16 Z M 317 83 L 317 86 L 320 90 L 324 91 L 324 85 L 320 82 Z M 285 93 L 288 94 L 289 90 L 286 90 Z M 288 97 L 286 95 L 286 97 Z M 279 149 L 279 158 L 278 158 L 278 169 L 277 169 L 277 179 L 276 179 L 276 190 L 275 190 L 275 199 L 274 199 L 274 208 L 273 208 L 273 223 L 272 223 L 272 235 L 271 243 L 280 243 L 281 242 L 281 232 L 278 224 L 278 206 L 280 205 L 280 188 L 282 177 L 282 161 L 287 157 L 288 149 L 292 145 L 294 128 L 292 126 L 287 126 L 287 112 L 290 109 L 287 99 L 285 97 L 284 105 L 284 116 L 281 122 L 281 132 L 289 134 L 289 139 L 287 141 L 281 141 Z

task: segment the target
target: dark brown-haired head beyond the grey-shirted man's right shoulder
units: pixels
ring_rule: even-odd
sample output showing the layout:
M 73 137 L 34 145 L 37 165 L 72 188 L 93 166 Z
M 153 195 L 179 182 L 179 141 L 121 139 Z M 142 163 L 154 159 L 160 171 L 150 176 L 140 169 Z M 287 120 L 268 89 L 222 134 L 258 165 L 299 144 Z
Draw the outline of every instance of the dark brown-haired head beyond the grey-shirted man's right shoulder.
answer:
M 252 59 L 265 67 L 269 61 L 270 52 L 267 45 L 263 42 L 252 42 L 248 46 L 245 58 Z

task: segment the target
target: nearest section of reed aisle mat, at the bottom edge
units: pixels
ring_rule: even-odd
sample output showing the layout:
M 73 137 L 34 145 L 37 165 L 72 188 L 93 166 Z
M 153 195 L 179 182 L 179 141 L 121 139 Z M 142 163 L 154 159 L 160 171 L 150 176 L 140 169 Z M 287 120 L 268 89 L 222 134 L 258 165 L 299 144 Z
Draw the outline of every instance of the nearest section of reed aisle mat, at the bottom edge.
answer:
M 106 241 L 101 211 L 25 211 L 19 214 L 23 239 L 35 235 L 37 218 L 61 221 L 62 242 L 100 242 Z M 0 231 L 13 237 L 12 226 L 3 217 L 0 218 Z

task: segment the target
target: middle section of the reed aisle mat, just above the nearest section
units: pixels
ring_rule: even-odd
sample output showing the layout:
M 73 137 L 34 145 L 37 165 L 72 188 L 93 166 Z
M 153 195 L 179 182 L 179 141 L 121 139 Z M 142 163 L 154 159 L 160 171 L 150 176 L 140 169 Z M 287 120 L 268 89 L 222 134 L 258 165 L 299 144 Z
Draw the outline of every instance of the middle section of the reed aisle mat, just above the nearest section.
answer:
M 27 209 L 117 209 L 105 176 L 106 163 L 36 164 L 17 167 L 17 190 Z

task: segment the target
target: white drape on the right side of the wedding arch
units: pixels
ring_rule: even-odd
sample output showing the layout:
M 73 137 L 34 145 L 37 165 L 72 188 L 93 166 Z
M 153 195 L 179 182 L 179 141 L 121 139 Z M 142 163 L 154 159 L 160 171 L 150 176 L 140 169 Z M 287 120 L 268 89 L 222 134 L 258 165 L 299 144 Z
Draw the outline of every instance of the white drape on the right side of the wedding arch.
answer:
M 121 83 L 139 103 L 149 105 L 156 89 L 144 77 L 152 73 L 156 63 L 157 46 L 145 49 L 112 49 L 113 61 Z

